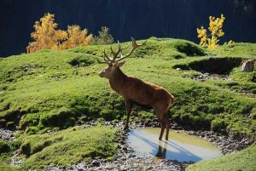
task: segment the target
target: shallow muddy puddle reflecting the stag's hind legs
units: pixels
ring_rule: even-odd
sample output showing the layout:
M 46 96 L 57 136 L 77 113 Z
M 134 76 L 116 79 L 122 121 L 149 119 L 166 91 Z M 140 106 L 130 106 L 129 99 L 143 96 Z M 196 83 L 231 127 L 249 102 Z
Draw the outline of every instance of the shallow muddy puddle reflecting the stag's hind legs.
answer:
M 170 131 L 169 140 L 158 140 L 160 128 L 137 128 L 129 132 L 128 144 L 137 157 L 155 157 L 179 162 L 198 162 L 221 156 L 212 143 L 184 131 Z

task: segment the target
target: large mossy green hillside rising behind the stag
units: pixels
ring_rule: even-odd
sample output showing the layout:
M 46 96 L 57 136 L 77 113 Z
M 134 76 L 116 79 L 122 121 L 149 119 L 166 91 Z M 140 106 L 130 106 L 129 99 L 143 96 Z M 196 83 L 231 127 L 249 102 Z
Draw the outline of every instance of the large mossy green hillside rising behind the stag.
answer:
M 247 51 L 247 43 L 239 46 L 244 47 L 244 54 L 252 55 Z M 109 88 L 107 79 L 97 76 L 106 66 L 97 64 L 94 55 L 102 55 L 104 48 L 109 53 L 109 45 L 86 46 L 61 52 L 44 50 L 0 60 L 2 127 L 18 125 L 27 134 L 36 134 L 49 128 L 68 128 L 79 120 L 125 117 L 122 98 Z M 254 137 L 255 99 L 214 86 L 214 81 L 191 80 L 190 77 L 199 75 L 199 71 L 173 68 L 195 60 L 207 60 L 208 57 L 193 57 L 201 53 L 209 52 L 189 41 L 153 37 L 127 59 L 122 70 L 174 94 L 176 103 L 171 114 L 175 122 Z M 237 57 L 235 53 L 233 56 Z M 235 83 L 240 85 L 241 82 L 252 84 L 237 77 Z M 135 109 L 132 113 L 135 120 L 154 118 L 152 111 L 141 111 L 137 106 Z

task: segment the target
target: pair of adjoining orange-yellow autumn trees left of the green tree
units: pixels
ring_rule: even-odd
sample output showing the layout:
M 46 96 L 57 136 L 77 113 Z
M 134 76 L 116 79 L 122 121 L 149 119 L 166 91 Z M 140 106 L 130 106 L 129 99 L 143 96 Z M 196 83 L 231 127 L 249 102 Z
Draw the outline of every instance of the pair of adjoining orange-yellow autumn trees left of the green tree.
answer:
M 41 49 L 61 50 L 77 46 L 89 45 L 92 34 L 87 36 L 87 29 L 80 30 L 79 26 L 68 26 L 67 31 L 57 30 L 54 14 L 44 14 L 40 21 L 36 21 L 35 31 L 31 37 L 35 40 L 26 47 L 27 53 L 38 52 Z

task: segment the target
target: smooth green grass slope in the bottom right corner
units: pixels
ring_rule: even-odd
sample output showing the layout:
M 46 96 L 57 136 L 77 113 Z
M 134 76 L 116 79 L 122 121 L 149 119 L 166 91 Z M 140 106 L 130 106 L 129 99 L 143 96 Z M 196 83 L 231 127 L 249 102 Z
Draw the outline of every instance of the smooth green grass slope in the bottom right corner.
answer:
M 256 145 L 245 150 L 218 157 L 212 160 L 196 162 L 190 165 L 187 171 L 253 171 L 256 168 Z

